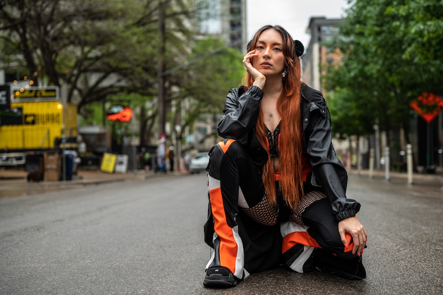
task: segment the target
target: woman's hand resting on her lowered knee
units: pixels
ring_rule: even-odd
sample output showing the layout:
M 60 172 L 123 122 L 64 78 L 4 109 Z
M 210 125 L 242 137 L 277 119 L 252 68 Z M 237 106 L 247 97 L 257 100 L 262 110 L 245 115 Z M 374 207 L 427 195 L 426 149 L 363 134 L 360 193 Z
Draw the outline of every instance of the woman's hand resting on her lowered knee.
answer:
M 349 217 L 343 219 L 338 223 L 338 231 L 340 233 L 341 241 L 344 245 L 347 245 L 346 241 L 346 233 L 349 233 L 354 241 L 354 248 L 352 249 L 352 253 L 355 254 L 357 252 L 360 255 L 361 251 L 366 245 L 367 241 L 367 232 L 364 229 L 363 225 L 358 221 L 355 217 Z

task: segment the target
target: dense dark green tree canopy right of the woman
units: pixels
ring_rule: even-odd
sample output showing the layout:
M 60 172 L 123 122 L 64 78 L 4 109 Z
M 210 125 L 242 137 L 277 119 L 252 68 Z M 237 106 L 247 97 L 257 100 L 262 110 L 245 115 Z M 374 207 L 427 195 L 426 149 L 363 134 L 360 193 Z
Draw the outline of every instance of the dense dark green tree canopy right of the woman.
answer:
M 336 103 L 339 108 L 345 104 L 355 108 L 345 120 L 377 123 L 385 131 L 408 128 L 413 100 L 422 92 L 443 94 L 443 2 L 354 0 L 350 4 L 336 40 L 343 63 L 328 70 L 326 88 L 340 90 L 334 95 L 341 100 Z M 358 135 L 359 124 L 345 133 Z

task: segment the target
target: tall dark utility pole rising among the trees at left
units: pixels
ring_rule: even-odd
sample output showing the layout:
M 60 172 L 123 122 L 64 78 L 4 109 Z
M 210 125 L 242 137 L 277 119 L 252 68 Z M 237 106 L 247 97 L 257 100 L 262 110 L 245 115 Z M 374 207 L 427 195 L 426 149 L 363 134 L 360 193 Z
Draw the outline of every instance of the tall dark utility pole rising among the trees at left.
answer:
M 159 26 L 158 32 L 160 36 L 160 46 L 159 46 L 159 58 L 158 58 L 158 119 L 159 126 L 158 130 L 160 134 L 166 134 L 165 125 L 166 125 L 166 99 L 165 99 L 165 87 L 164 87 L 164 52 L 166 49 L 166 34 L 165 34 L 165 26 L 164 26 L 164 0 L 159 0 L 160 2 L 160 18 L 159 18 Z

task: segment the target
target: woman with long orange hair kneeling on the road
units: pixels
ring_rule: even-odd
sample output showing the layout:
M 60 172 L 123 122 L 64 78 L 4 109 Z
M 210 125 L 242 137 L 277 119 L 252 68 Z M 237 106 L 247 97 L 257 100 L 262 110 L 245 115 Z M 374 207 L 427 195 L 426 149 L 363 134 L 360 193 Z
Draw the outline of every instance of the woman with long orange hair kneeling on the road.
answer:
M 224 140 L 210 152 L 204 285 L 235 286 L 245 270 L 282 264 L 365 278 L 360 204 L 346 198 L 326 102 L 300 80 L 303 45 L 264 26 L 247 51 L 246 86 L 229 91 L 218 124 Z

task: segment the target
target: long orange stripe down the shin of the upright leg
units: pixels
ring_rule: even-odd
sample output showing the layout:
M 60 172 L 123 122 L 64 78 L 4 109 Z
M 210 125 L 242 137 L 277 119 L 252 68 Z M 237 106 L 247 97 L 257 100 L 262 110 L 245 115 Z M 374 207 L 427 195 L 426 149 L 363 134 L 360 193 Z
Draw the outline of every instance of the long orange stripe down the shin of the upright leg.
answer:
M 232 228 L 226 222 L 225 208 L 223 206 L 222 190 L 217 187 L 209 191 L 212 215 L 214 217 L 214 231 L 220 239 L 220 266 L 235 272 L 237 258 L 237 243 L 234 239 Z

